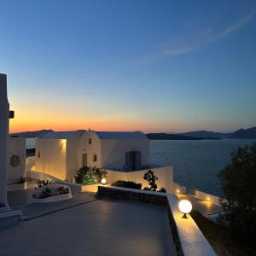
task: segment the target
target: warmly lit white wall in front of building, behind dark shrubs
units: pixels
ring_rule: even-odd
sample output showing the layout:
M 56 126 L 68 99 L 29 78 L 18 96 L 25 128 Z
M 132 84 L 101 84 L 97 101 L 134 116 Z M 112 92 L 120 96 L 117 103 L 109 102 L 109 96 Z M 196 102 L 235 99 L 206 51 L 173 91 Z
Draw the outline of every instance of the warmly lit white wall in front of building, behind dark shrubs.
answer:
M 165 188 L 168 193 L 174 193 L 175 188 L 172 180 L 172 166 L 151 168 L 146 170 L 134 171 L 134 172 L 118 172 L 108 170 L 107 183 L 112 184 L 117 180 L 133 181 L 136 183 L 142 183 L 143 188 L 148 187 L 148 182 L 143 179 L 144 173 L 152 170 L 154 175 L 158 177 L 157 189 Z

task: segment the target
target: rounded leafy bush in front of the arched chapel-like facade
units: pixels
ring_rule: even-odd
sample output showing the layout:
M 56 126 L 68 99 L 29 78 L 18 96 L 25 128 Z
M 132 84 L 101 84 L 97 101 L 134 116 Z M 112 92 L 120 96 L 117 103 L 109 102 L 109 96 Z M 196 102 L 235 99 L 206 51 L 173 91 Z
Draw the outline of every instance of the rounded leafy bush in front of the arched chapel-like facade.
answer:
M 76 172 L 75 181 L 76 183 L 83 185 L 101 183 L 102 177 L 106 177 L 107 173 L 107 170 L 96 166 L 83 166 L 78 172 Z

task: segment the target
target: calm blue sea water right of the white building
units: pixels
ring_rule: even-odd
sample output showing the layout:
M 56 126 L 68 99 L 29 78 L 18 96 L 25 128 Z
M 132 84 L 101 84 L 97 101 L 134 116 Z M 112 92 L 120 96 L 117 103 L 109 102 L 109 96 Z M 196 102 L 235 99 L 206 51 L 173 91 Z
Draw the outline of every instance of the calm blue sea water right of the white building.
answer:
M 230 163 L 230 152 L 253 139 L 151 141 L 150 162 L 174 167 L 175 182 L 221 195 L 218 171 Z

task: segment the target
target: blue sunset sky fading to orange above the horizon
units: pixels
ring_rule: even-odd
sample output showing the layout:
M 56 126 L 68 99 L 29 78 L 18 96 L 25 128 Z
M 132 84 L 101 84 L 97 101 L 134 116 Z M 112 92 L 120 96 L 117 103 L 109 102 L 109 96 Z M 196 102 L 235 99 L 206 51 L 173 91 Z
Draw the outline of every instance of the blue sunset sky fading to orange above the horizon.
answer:
M 256 125 L 256 1 L 0 0 L 10 131 Z

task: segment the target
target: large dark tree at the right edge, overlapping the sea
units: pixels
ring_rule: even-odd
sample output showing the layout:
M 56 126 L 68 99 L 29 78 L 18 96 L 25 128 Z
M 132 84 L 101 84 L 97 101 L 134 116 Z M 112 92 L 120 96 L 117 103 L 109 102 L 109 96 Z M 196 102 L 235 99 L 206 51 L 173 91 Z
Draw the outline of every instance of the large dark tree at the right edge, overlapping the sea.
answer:
M 222 223 L 243 244 L 255 247 L 256 234 L 256 143 L 231 153 L 232 162 L 218 173 L 223 197 Z

